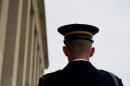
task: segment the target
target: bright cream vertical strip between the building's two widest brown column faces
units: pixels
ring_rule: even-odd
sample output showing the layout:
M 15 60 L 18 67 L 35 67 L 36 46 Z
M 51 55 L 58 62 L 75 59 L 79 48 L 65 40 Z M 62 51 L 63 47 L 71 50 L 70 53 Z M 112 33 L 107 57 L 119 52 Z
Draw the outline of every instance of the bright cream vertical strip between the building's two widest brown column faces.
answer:
M 19 1 L 18 7 L 18 24 L 17 24 L 17 32 L 16 32 L 16 43 L 15 43 L 15 55 L 14 55 L 14 68 L 13 68 L 13 82 L 12 86 L 16 86 L 17 83 L 17 69 L 18 69 L 18 59 L 19 59 L 19 50 L 20 50 L 20 36 L 21 36 L 21 20 L 22 20 L 22 8 L 23 8 L 23 0 Z

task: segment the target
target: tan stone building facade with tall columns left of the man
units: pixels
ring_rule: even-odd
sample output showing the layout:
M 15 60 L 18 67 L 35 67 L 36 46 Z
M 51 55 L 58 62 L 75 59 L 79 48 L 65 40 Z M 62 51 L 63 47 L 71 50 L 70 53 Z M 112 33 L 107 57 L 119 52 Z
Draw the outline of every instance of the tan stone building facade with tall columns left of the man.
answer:
M 48 67 L 43 0 L 0 0 L 0 86 L 37 86 Z

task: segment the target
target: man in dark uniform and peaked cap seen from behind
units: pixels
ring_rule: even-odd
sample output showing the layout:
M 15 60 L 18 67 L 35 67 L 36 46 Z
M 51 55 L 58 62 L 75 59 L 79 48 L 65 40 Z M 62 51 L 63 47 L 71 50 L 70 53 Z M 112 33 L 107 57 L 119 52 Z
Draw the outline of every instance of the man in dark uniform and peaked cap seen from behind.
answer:
M 99 29 L 87 24 L 69 24 L 58 28 L 64 36 L 63 51 L 68 65 L 59 71 L 44 75 L 39 86 L 123 86 L 121 79 L 107 71 L 95 68 L 90 57 L 95 48 L 93 36 Z

